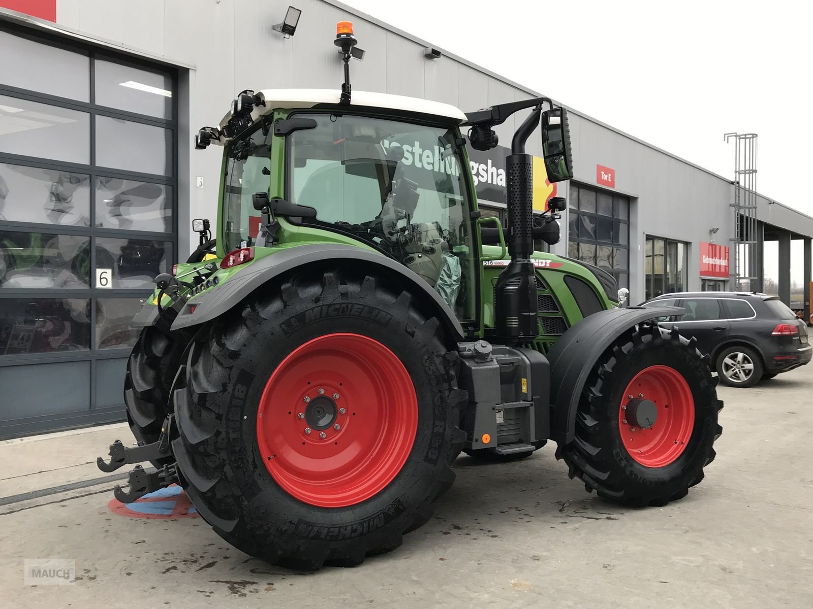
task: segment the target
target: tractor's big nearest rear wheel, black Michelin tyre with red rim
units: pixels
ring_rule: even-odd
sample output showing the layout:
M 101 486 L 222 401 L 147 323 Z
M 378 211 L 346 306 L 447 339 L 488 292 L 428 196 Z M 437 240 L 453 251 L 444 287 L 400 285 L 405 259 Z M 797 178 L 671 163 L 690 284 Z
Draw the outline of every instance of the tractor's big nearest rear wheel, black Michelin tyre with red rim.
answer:
M 465 391 L 437 318 L 376 279 L 301 275 L 189 352 L 173 441 L 215 531 L 274 564 L 359 564 L 454 479 Z

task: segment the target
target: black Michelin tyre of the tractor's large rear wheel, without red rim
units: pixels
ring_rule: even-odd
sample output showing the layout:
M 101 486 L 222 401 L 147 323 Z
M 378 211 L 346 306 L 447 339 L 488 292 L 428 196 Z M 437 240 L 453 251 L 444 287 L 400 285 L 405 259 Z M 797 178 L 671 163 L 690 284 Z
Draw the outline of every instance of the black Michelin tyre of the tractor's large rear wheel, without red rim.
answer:
M 398 294 L 398 296 L 396 296 Z M 322 304 L 350 303 L 391 314 L 380 326 L 356 307 L 346 316 L 298 323 Z M 286 334 L 287 331 L 287 334 Z M 410 372 L 419 432 L 401 473 L 378 495 L 346 508 L 302 503 L 276 484 L 256 441 L 259 396 L 280 361 L 316 336 L 349 331 L 385 343 Z M 391 551 L 423 525 L 454 481 L 450 464 L 466 438 L 459 429 L 467 392 L 457 388 L 459 356 L 437 317 L 421 314 L 385 278 L 349 270 L 298 274 L 268 287 L 198 334 L 185 387 L 176 391 L 179 430 L 172 446 L 182 484 L 215 532 L 272 564 L 313 571 L 353 566 Z

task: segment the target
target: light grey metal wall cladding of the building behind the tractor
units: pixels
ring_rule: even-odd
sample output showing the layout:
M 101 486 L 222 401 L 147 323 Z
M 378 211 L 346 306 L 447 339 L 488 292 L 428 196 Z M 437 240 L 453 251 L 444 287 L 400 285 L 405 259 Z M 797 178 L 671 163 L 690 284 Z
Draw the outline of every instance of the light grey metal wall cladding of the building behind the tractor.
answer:
M 454 58 L 431 61 L 424 44 L 385 24 L 352 14 L 352 9 L 323 0 L 299 0 L 302 19 L 296 34 L 284 38 L 272 30 L 288 7 L 281 0 L 58 0 L 57 23 L 91 37 L 119 41 L 150 54 L 193 64 L 182 82 L 182 141 L 204 124 L 216 123 L 241 89 L 273 87 L 338 88 L 341 63 L 333 46 L 335 24 L 354 22 L 363 63 L 352 64 L 354 89 L 426 97 L 474 110 L 494 103 L 528 97 L 527 90 L 506 83 Z M 436 41 L 442 48 L 443 41 Z M 555 97 L 555 91 L 544 92 Z M 631 100 L 634 102 L 634 100 Z M 185 106 L 185 104 L 181 104 Z M 501 143 L 509 145 L 517 114 L 498 127 Z M 615 170 L 616 190 L 633 197 L 630 218 L 630 278 L 633 300 L 643 297 L 645 235 L 693 243 L 689 247 L 689 289 L 699 289 L 699 242 L 713 239 L 729 244 L 733 235 L 733 190 L 727 180 L 659 152 L 592 119 L 572 114 L 576 181 L 596 185 L 596 165 Z M 530 152 L 541 153 L 538 140 Z M 216 149 L 202 153 L 181 150 L 181 171 L 188 190 L 181 188 L 181 226 L 189 217 L 214 218 L 220 157 Z M 203 188 L 195 188 L 197 176 Z M 183 186 L 183 184 L 182 184 Z M 184 192 L 186 190 L 186 192 Z M 567 196 L 567 188 L 559 194 Z M 184 213 L 185 197 L 191 215 Z M 764 213 L 777 221 L 798 223 L 801 214 L 772 205 Z M 760 209 L 762 211 L 762 208 Z M 804 217 L 802 217 L 804 218 Z M 771 222 L 771 219 L 767 220 Z M 563 229 L 567 218 L 563 218 Z M 813 222 L 811 231 L 813 232 Z M 181 248 L 189 234 L 182 231 Z M 554 248 L 566 252 L 566 239 Z

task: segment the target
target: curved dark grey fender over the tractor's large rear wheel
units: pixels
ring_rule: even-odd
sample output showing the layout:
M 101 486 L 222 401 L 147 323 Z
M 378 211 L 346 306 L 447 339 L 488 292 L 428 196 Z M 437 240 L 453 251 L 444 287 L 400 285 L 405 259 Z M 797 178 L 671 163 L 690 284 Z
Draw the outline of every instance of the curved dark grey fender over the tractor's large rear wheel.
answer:
M 398 261 L 379 253 L 341 244 L 298 245 L 282 249 L 252 262 L 245 270 L 241 270 L 216 289 L 203 292 L 185 304 L 175 322 L 172 323 L 172 330 L 181 330 L 211 322 L 241 303 L 264 283 L 268 283 L 290 270 L 324 261 L 329 261 L 337 266 L 346 263 L 354 268 L 366 265 L 380 270 L 382 274 L 389 277 L 397 276 L 416 300 L 423 301 L 425 305 L 433 307 L 437 311 L 441 323 L 447 330 L 450 330 L 454 340 L 463 340 L 463 327 L 460 326 L 454 312 L 441 299 L 441 296 L 415 272 Z

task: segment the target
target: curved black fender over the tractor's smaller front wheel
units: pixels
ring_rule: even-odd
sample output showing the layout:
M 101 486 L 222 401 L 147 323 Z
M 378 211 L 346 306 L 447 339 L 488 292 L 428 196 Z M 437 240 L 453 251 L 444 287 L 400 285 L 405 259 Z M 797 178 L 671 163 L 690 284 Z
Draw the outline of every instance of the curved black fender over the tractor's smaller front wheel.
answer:
M 581 391 L 598 358 L 613 341 L 637 323 L 681 315 L 680 307 L 628 307 L 593 313 L 572 326 L 548 352 L 551 433 L 560 445 L 572 442 Z

